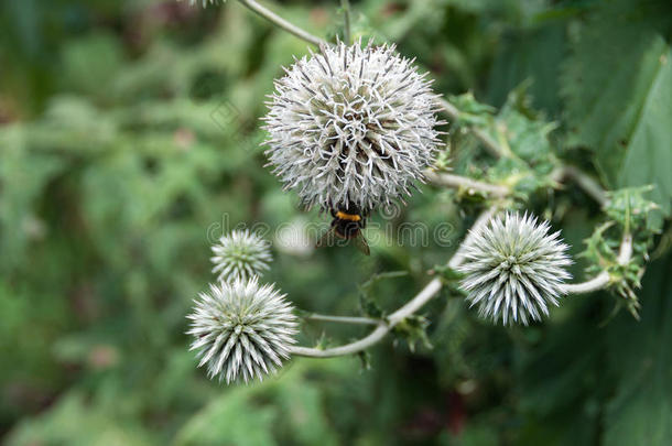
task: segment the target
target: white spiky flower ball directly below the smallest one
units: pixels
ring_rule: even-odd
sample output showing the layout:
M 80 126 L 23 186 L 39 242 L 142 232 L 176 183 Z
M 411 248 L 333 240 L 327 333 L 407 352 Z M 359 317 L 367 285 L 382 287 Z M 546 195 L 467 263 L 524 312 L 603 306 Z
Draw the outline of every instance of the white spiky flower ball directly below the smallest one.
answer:
M 274 373 L 295 342 L 297 322 L 291 304 L 274 285 L 259 285 L 258 278 L 210 284 L 187 318 L 198 367 L 207 365 L 208 377 L 227 384 Z

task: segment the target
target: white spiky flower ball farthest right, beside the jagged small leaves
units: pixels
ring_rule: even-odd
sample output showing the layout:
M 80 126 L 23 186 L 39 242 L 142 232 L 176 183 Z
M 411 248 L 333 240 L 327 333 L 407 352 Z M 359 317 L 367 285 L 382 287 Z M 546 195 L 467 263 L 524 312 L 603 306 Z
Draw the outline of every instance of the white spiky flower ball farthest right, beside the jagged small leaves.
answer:
M 507 213 L 470 233 L 458 271 L 481 317 L 528 325 L 548 316 L 549 305 L 557 306 L 572 261 L 560 232 L 549 230 L 548 221 Z

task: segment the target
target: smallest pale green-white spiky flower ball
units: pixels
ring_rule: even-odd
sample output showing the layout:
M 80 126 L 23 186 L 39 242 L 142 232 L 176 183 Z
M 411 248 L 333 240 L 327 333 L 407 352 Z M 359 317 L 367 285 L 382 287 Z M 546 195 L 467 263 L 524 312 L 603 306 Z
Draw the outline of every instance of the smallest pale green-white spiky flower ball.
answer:
M 260 276 L 273 260 L 269 243 L 248 229 L 223 236 L 212 250 L 213 272 L 218 274 L 218 281 L 225 282 Z

